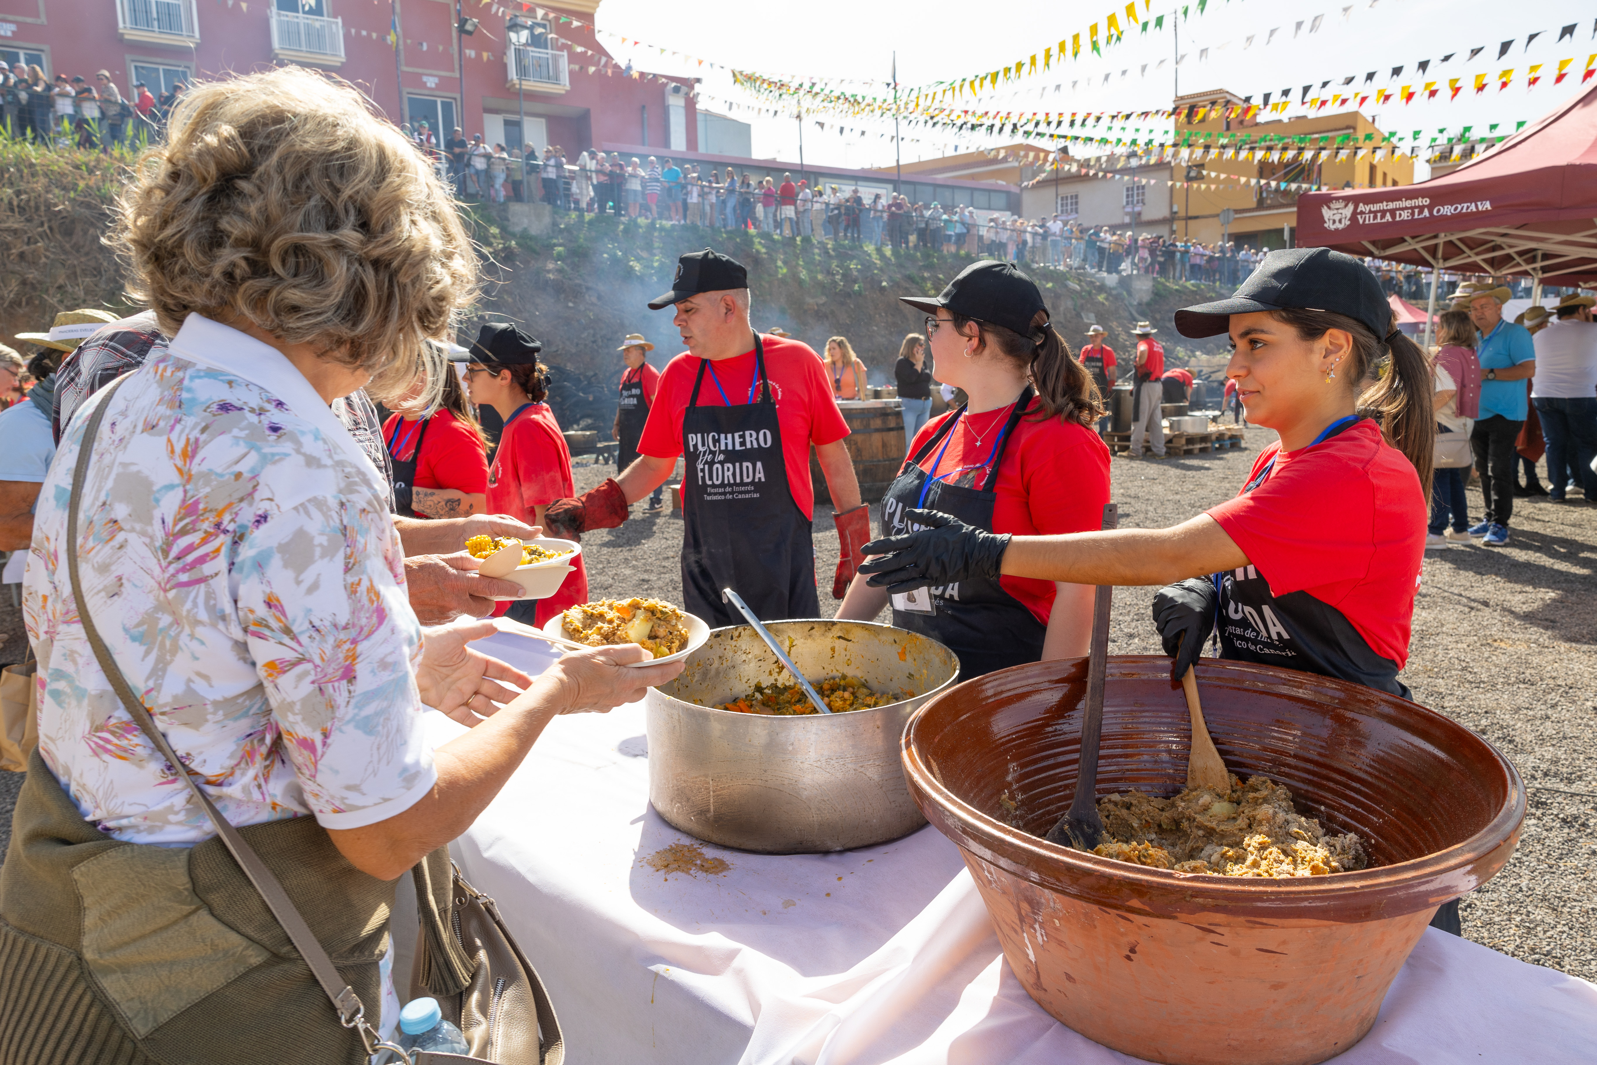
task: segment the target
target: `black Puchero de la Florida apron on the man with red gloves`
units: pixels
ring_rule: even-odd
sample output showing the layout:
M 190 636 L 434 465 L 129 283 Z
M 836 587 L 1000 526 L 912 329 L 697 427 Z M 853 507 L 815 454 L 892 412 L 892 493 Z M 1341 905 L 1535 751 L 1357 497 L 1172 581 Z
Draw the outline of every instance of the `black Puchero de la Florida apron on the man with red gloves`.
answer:
M 743 615 L 720 600 L 728 586 L 760 621 L 821 616 L 810 519 L 787 484 L 783 430 L 759 334 L 754 361 L 747 404 L 701 407 L 698 394 L 709 367 L 709 359 L 701 359 L 682 414 L 682 602 L 712 629 L 744 624 Z M 725 393 L 722 399 L 728 399 Z

